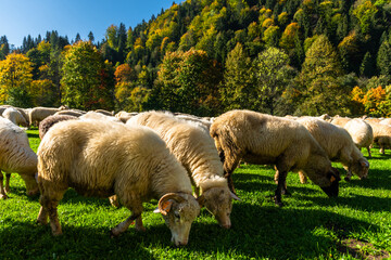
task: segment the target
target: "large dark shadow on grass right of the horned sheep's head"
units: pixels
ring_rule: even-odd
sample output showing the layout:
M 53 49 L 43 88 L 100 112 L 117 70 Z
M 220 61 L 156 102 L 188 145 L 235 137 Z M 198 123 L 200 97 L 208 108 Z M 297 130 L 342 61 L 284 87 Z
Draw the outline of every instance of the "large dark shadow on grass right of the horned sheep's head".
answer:
M 238 203 L 231 230 L 194 224 L 189 249 L 235 252 L 244 258 L 299 259 L 328 256 L 339 239 L 360 229 L 378 226 L 326 210 L 297 210 Z M 317 230 L 323 232 L 317 232 Z M 332 233 L 333 235 L 330 235 Z M 213 247 L 211 247 L 211 244 Z

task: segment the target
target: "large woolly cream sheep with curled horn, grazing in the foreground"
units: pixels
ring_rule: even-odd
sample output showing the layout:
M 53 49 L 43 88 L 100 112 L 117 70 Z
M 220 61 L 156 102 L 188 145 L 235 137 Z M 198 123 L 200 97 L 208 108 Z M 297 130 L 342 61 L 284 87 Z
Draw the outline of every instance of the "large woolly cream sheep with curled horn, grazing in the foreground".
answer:
M 191 195 L 185 168 L 164 141 L 144 127 L 105 120 L 68 120 L 55 123 L 38 147 L 38 185 L 41 205 L 37 222 L 61 235 L 56 207 L 68 187 L 85 196 L 116 194 L 131 216 L 111 230 L 125 232 L 136 220 L 143 230 L 142 203 L 160 198 L 159 210 L 176 246 L 187 245 L 191 223 L 200 212 Z

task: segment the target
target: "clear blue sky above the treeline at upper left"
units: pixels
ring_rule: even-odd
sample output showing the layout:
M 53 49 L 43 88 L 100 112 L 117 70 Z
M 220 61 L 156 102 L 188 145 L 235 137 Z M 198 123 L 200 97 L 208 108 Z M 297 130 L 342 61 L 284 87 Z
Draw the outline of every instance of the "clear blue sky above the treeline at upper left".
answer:
M 180 1 L 175 1 L 179 3 Z M 33 38 L 46 31 L 75 39 L 79 32 L 87 39 L 93 32 L 96 41 L 104 38 L 106 28 L 124 23 L 135 27 L 162 8 L 169 9 L 173 0 L 0 0 L 0 36 L 5 35 L 10 44 L 22 46 L 23 37 Z

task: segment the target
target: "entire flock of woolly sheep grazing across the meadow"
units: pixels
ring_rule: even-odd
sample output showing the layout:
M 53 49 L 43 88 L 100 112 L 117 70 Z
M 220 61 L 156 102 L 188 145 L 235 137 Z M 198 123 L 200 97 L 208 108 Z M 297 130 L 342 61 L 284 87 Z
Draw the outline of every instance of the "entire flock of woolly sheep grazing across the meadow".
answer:
M 230 110 L 216 118 L 169 112 L 83 112 L 35 107 L 0 107 L 0 198 L 10 193 L 10 173 L 25 181 L 27 195 L 40 193 L 38 223 L 50 222 L 62 234 L 58 205 L 68 187 L 85 196 L 110 198 L 131 211 L 111 230 L 125 232 L 133 221 L 144 231 L 142 203 L 159 199 L 160 212 L 176 246 L 187 245 L 191 223 L 205 207 L 220 226 L 231 226 L 235 193 L 231 174 L 240 161 L 274 165 L 275 203 L 289 193 L 286 178 L 299 172 L 328 196 L 338 196 L 339 161 L 360 179 L 368 176 L 361 153 L 377 142 L 391 145 L 388 119 L 342 117 L 275 117 L 251 110 Z M 37 154 L 20 128 L 39 126 Z

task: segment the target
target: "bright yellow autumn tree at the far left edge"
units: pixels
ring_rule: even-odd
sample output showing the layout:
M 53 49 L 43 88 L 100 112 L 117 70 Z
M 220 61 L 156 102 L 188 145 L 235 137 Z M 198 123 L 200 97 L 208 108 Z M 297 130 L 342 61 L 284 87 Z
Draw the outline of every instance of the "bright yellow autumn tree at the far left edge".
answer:
M 29 107 L 33 66 L 24 54 L 12 53 L 0 61 L 0 104 Z M 17 103 L 16 103 L 17 102 Z

